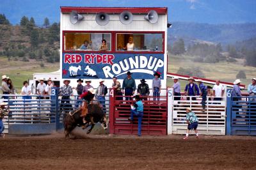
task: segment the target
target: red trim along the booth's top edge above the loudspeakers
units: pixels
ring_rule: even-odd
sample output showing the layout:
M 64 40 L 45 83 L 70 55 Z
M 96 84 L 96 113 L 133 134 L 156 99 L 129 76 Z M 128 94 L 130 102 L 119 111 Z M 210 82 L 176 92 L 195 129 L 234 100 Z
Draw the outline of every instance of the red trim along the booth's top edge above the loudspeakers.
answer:
M 148 13 L 150 10 L 155 10 L 158 14 L 166 14 L 167 8 L 138 8 L 138 7 L 74 7 L 74 6 L 61 6 L 60 7 L 62 13 L 70 13 L 72 10 L 77 11 L 78 13 L 122 13 L 125 10 L 131 13 Z

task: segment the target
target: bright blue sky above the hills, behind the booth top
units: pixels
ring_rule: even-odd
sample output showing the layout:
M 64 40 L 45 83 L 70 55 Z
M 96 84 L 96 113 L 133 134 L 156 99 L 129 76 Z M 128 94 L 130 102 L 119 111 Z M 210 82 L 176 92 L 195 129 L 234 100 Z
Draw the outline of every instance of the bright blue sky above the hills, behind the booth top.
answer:
M 26 15 L 42 25 L 45 17 L 51 23 L 60 21 L 60 6 L 165 6 L 170 22 L 256 22 L 256 0 L 0 0 L 0 13 L 12 24 L 19 24 L 20 18 Z

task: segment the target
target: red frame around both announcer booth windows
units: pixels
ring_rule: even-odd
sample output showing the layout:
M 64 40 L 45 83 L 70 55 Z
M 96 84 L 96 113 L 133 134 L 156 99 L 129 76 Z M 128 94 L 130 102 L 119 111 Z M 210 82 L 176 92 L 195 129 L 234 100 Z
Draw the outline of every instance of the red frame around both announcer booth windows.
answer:
M 102 33 L 111 35 L 111 49 L 110 50 L 64 50 L 65 47 L 65 33 Z M 162 34 L 163 51 L 127 51 L 116 50 L 116 35 L 117 34 Z M 116 54 L 164 54 L 165 53 L 165 32 L 164 31 L 62 31 L 62 52 L 64 53 L 116 53 Z

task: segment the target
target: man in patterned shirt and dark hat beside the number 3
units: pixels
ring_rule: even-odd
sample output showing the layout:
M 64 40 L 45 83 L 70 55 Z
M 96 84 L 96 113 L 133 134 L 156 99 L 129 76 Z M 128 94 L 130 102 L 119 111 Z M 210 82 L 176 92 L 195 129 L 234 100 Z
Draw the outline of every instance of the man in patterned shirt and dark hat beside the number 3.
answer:
M 63 81 L 64 85 L 61 86 L 60 88 L 60 96 L 61 96 L 61 105 L 60 109 L 63 111 L 65 110 L 65 103 L 67 106 L 67 109 L 71 110 L 72 105 L 70 105 L 70 96 L 72 95 L 72 88 L 69 86 L 70 81 L 69 80 L 64 80 Z

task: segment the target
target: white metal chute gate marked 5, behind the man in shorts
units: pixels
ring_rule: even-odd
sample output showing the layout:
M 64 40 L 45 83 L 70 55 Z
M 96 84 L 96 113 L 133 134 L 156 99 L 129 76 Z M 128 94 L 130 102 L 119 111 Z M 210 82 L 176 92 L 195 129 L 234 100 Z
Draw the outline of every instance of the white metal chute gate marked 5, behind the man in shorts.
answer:
M 174 100 L 175 98 L 175 100 Z M 173 89 L 168 89 L 168 134 L 185 134 L 188 124 L 186 123 L 186 107 L 190 107 L 198 117 L 198 130 L 200 134 L 225 135 L 226 129 L 226 100 L 214 100 L 207 97 L 206 111 L 202 112 L 200 97 L 173 97 Z

